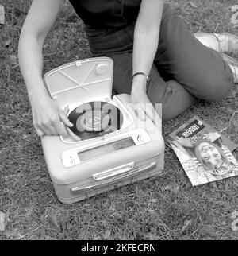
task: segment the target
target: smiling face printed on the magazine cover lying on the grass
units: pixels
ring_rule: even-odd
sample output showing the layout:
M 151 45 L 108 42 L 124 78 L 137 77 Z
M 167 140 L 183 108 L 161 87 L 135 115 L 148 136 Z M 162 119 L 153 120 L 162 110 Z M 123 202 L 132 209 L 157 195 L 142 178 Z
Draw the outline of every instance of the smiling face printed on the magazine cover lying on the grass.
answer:
M 206 170 L 214 175 L 228 173 L 228 159 L 225 153 L 213 142 L 201 141 L 195 146 L 195 156 Z

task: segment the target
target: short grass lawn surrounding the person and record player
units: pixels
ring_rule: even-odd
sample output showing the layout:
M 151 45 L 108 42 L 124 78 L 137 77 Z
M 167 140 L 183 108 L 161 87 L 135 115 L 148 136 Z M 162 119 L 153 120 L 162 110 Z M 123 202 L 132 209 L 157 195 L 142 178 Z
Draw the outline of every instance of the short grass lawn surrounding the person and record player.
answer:
M 170 0 L 192 31 L 236 33 L 228 7 L 236 0 Z M 195 8 L 194 3 L 198 8 Z M 30 1 L 3 0 L 6 24 L 0 26 L 0 211 L 8 218 L 0 239 L 237 239 L 238 178 L 193 188 L 175 153 L 165 149 L 165 169 L 89 200 L 59 203 L 44 163 L 31 118 L 25 84 L 17 64 L 17 41 Z M 90 56 L 83 23 L 64 3 L 44 44 L 44 72 Z M 219 103 L 199 101 L 163 123 L 169 134 L 195 114 L 238 142 L 237 87 Z M 232 118 L 232 119 L 231 119 Z

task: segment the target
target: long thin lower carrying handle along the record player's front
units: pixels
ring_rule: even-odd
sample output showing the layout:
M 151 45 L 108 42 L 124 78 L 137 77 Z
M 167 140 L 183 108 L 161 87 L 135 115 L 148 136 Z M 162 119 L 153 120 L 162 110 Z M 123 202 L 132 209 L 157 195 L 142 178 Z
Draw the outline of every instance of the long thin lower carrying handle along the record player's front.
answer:
M 132 171 L 130 171 L 129 173 L 121 174 L 121 175 L 113 177 L 113 178 L 111 178 L 109 180 L 101 181 L 101 182 L 99 182 L 97 184 L 93 184 L 93 185 L 90 185 L 90 186 L 87 186 L 87 187 L 83 187 L 83 188 L 79 188 L 79 187 L 71 188 L 71 192 L 72 193 L 86 192 L 88 190 L 93 190 L 93 189 L 105 187 L 106 185 L 110 185 L 110 184 L 118 182 L 118 180 L 121 181 L 121 180 L 123 180 L 125 178 L 128 178 L 129 176 L 134 176 L 134 175 L 136 175 L 138 173 L 146 172 L 146 171 L 148 171 L 150 169 L 154 169 L 155 167 L 156 167 L 156 162 L 152 162 L 152 163 L 149 163 L 148 165 L 145 165 L 142 168 L 138 168 L 137 167 L 136 169 L 132 169 Z

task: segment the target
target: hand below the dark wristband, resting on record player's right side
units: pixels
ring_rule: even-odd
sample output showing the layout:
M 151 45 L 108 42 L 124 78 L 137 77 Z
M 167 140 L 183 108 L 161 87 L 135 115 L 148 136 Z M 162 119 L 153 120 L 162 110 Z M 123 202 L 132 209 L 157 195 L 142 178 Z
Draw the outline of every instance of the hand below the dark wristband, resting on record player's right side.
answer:
M 131 101 L 135 106 L 136 114 L 141 121 L 145 121 L 148 117 L 155 123 L 160 123 L 159 115 L 155 111 L 152 102 L 148 99 L 148 95 L 145 91 L 146 80 L 144 77 L 139 80 L 134 80 L 132 84 Z

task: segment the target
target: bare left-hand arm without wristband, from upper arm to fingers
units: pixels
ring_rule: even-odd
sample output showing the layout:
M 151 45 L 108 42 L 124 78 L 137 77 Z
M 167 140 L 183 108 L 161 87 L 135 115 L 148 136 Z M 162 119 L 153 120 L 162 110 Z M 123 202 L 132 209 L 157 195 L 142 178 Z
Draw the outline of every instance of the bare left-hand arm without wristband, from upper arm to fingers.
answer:
M 33 109 L 33 125 L 38 135 L 66 135 L 63 123 L 71 126 L 63 111 L 48 95 L 42 80 L 42 46 L 56 21 L 61 1 L 34 0 L 19 40 L 19 64 Z

